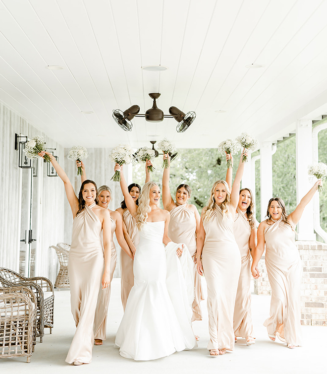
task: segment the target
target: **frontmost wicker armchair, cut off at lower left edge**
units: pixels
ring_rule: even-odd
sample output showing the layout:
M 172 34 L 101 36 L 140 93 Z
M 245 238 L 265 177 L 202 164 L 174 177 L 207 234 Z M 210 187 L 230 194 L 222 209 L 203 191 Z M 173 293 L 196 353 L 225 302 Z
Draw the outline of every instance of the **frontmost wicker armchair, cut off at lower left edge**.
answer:
M 36 303 L 27 288 L 0 289 L 0 358 L 27 356 L 31 361 L 36 317 L 32 300 Z

